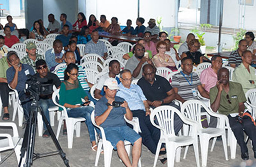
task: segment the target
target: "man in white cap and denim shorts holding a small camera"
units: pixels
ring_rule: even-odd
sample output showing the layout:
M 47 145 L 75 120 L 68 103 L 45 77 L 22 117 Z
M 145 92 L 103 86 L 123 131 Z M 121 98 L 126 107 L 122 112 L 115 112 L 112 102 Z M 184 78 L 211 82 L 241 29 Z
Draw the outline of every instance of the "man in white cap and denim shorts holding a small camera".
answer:
M 106 140 L 110 141 L 117 154 L 127 167 L 138 166 L 141 155 L 141 136 L 126 125 L 124 115 L 128 120 L 132 120 L 132 112 L 127 102 L 118 96 L 117 81 L 114 78 L 108 78 L 104 83 L 105 96 L 95 105 L 95 122 L 103 127 Z M 121 107 L 113 107 L 113 101 L 124 102 Z M 124 140 L 133 144 L 132 164 L 124 147 Z M 104 153 L 107 154 L 107 153 Z

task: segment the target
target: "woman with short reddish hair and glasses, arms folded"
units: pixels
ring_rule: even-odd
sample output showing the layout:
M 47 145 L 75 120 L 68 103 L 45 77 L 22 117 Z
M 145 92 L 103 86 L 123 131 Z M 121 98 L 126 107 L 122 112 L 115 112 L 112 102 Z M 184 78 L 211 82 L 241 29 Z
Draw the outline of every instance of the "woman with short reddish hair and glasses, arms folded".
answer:
M 172 71 L 176 71 L 177 68 L 173 59 L 170 55 L 165 53 L 168 45 L 164 41 L 160 41 L 157 43 L 156 47 L 158 54 L 154 55 L 152 59 L 155 67 L 167 67 Z

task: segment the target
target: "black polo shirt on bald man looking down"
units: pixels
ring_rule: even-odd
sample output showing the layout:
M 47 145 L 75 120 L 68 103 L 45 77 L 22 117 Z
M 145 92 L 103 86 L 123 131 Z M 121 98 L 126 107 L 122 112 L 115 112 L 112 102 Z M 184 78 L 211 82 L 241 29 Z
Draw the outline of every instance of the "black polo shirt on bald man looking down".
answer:
M 167 92 L 172 89 L 172 86 L 167 79 L 159 75 L 155 75 L 153 85 L 146 81 L 144 77 L 138 81 L 138 85 L 141 87 L 143 94 L 149 101 L 163 100 L 168 96 Z

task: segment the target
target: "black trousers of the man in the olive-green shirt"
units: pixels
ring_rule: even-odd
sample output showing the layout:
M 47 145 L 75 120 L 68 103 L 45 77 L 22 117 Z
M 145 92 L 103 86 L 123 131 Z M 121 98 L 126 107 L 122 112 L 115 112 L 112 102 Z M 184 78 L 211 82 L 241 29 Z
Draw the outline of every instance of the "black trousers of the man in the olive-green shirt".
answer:
M 244 131 L 252 140 L 253 150 L 256 151 L 256 126 L 254 126 L 249 116 L 244 116 L 242 123 L 236 121 L 236 117 L 228 115 L 229 125 L 234 132 L 237 143 L 241 148 L 241 153 L 248 152 L 248 148 L 244 141 Z

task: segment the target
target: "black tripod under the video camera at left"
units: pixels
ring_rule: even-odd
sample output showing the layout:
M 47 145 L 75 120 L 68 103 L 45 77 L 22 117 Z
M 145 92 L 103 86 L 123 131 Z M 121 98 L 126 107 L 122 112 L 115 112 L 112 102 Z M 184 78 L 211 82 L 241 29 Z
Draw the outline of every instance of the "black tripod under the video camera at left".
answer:
M 40 111 L 40 113 L 42 115 L 42 119 L 46 124 L 47 130 L 50 133 L 51 139 L 53 140 L 53 142 L 57 148 L 57 151 L 49 152 L 49 153 L 42 153 L 42 154 L 34 153 L 38 111 Z M 26 153 L 26 161 L 25 161 L 24 167 L 30 167 L 31 165 L 33 165 L 33 160 L 36 160 L 38 158 L 57 155 L 57 154 L 59 154 L 60 157 L 63 159 L 64 164 L 67 167 L 69 167 L 68 160 L 66 159 L 66 154 L 63 152 L 62 148 L 60 147 L 59 142 L 57 141 L 57 138 L 53 132 L 53 129 L 51 129 L 51 126 L 50 126 L 49 122 L 47 121 L 44 112 L 42 112 L 42 110 L 39 106 L 39 96 L 33 96 L 30 117 L 29 117 L 29 120 L 26 125 L 25 134 L 24 134 L 24 138 L 23 138 L 23 142 L 22 142 L 22 146 L 21 146 L 19 167 L 22 164 L 22 159 L 25 158 L 24 157 L 25 153 Z

